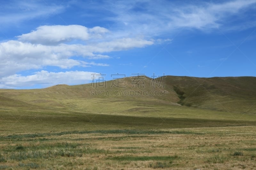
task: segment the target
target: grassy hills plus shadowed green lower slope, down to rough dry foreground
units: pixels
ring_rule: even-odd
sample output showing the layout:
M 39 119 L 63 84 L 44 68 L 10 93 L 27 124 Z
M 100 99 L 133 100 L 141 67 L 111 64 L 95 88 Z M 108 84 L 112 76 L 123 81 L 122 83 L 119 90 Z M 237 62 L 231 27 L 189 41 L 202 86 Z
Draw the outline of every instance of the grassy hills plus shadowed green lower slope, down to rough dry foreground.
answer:
M 153 79 L 140 79 L 107 81 L 106 86 L 1 89 L 2 128 L 6 126 L 5 120 L 9 120 L 8 124 L 19 122 L 21 131 L 26 131 L 28 123 L 36 131 L 48 131 L 58 129 L 65 121 L 70 130 L 93 129 L 95 124 L 97 128 L 109 125 L 110 129 L 255 124 L 254 77 L 167 76 L 164 86 L 160 84 L 161 78 L 157 78 L 155 87 Z

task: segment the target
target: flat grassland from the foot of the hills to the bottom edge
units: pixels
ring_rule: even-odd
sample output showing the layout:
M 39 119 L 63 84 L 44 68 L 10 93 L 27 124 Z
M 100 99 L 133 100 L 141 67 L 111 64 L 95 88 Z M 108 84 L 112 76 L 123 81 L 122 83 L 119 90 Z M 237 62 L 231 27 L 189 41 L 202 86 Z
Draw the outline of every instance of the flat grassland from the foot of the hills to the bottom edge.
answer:
M 256 168 L 254 115 L 165 107 L 157 115 L 2 108 L 0 169 Z

